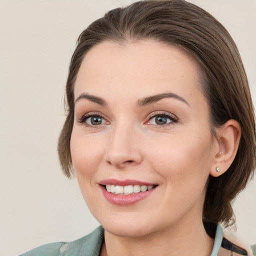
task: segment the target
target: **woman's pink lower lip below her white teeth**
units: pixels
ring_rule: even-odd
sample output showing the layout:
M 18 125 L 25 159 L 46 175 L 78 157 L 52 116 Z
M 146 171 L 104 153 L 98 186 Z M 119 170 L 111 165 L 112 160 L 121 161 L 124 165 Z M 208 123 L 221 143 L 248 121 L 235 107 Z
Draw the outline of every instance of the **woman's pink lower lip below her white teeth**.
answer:
M 120 206 L 131 205 L 146 198 L 155 190 L 155 188 L 156 187 L 153 187 L 152 189 L 144 192 L 125 195 L 125 194 L 113 194 L 113 193 L 107 192 L 105 187 L 100 185 L 100 189 L 102 190 L 102 193 L 105 199 L 112 204 L 120 205 Z

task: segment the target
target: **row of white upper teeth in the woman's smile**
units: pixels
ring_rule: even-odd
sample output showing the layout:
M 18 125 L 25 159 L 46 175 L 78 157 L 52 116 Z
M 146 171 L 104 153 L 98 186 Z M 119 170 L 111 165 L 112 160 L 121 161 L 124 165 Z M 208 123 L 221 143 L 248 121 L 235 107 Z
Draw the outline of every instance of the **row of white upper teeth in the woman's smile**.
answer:
M 115 186 L 115 185 L 106 185 L 106 190 L 115 194 L 132 194 L 138 192 L 144 192 L 146 190 L 152 189 L 153 186 L 146 185 L 127 185 L 127 186 Z

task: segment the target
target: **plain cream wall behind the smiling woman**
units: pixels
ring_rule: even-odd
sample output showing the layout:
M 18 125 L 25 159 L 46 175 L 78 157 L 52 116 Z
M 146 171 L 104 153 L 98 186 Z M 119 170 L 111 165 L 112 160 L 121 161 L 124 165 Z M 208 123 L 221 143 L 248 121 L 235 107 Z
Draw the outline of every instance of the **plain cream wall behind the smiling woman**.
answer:
M 256 98 L 256 0 L 190 0 L 234 38 Z M 70 241 L 98 222 L 76 180 L 61 173 L 56 144 L 79 33 L 132 0 L 0 0 L 0 256 Z M 256 179 L 234 203 L 236 235 L 256 242 Z

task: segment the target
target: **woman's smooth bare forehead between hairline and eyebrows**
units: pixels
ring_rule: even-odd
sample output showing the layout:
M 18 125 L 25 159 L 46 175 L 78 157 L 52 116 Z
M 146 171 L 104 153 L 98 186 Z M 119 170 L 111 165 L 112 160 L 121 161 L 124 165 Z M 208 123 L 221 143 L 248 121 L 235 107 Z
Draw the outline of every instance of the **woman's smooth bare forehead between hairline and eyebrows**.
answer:
M 188 53 L 162 42 L 102 42 L 82 60 L 74 96 L 85 91 L 109 98 L 113 93 L 139 98 L 173 92 L 189 98 L 200 92 L 199 70 Z

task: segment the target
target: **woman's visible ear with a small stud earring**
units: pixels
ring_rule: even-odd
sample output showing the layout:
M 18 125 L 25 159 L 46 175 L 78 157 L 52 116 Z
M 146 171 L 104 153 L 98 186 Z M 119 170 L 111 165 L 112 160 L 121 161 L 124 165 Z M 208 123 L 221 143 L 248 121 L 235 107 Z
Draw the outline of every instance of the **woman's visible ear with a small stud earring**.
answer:
M 217 177 L 231 165 L 236 155 L 241 137 L 240 124 L 233 119 L 217 128 L 217 146 L 210 174 Z M 217 171 L 217 167 L 219 168 Z

